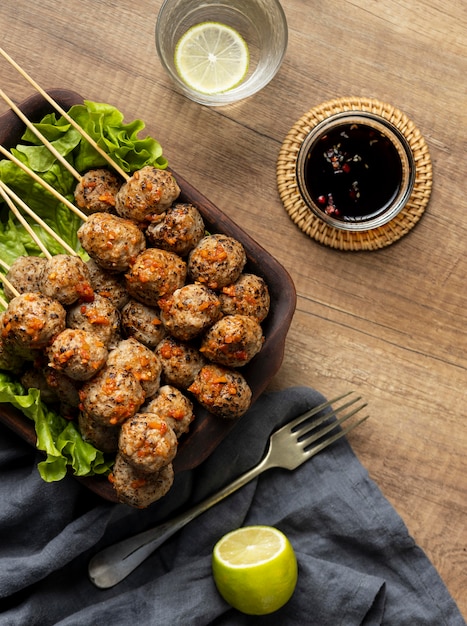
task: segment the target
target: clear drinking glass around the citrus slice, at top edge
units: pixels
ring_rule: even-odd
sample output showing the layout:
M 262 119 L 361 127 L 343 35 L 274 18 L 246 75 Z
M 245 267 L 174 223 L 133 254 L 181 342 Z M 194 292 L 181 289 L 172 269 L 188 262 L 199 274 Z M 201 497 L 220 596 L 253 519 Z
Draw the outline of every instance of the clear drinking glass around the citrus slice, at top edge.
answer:
M 238 31 L 250 54 L 248 74 L 237 87 L 205 95 L 190 89 L 175 67 L 180 37 L 201 22 L 221 22 Z M 156 23 L 156 49 L 161 64 L 177 89 L 199 104 L 222 106 L 248 98 L 277 74 L 288 42 L 288 27 L 279 0 L 165 0 Z

